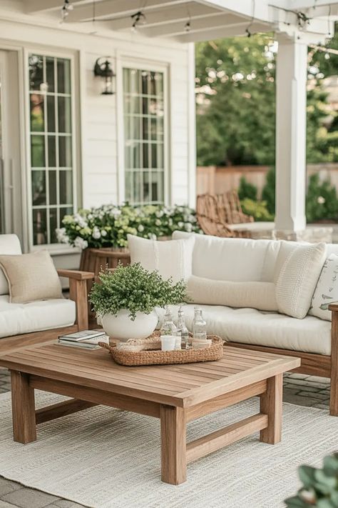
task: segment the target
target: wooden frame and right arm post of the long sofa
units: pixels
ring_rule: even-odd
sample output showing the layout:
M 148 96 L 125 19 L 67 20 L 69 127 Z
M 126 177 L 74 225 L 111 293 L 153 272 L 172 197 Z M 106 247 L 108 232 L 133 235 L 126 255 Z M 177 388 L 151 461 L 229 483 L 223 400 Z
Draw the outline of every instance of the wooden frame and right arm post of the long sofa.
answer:
M 289 357 L 301 359 L 300 367 L 292 372 L 309 374 L 311 376 L 329 377 L 330 379 L 330 402 L 329 414 L 338 417 L 338 304 L 329 305 L 332 311 L 331 328 L 331 355 L 303 353 L 291 349 L 280 349 L 277 347 L 255 346 L 253 344 L 240 344 L 238 342 L 227 342 L 227 346 L 243 347 L 267 353 L 283 354 Z

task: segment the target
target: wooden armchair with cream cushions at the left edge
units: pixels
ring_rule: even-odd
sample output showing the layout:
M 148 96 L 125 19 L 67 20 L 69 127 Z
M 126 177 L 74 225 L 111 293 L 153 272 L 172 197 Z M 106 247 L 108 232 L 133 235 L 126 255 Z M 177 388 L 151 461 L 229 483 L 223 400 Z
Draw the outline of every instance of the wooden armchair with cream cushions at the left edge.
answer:
M 0 254 L 21 254 L 15 234 L 0 235 Z M 0 268 L 0 354 L 88 328 L 87 281 L 93 274 L 58 270 L 58 275 L 69 278 L 70 299 L 13 304 L 9 303 L 9 286 Z

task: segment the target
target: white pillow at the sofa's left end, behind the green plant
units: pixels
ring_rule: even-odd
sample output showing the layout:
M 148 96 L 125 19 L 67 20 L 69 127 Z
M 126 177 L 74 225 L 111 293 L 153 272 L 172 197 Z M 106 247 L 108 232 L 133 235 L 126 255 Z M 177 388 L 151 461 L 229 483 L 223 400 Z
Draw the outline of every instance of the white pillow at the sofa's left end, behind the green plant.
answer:
M 128 234 L 130 262 L 140 263 L 153 272 L 158 270 L 164 279 L 173 277 L 174 282 L 187 280 L 193 268 L 195 238 L 156 241 Z

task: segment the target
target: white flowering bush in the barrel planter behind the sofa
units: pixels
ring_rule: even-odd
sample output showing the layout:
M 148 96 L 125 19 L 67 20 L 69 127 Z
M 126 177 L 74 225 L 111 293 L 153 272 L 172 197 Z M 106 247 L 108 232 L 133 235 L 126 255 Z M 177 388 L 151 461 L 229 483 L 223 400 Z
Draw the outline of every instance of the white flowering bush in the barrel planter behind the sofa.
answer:
M 195 211 L 188 206 L 108 204 L 66 215 L 62 224 L 56 230 L 58 241 L 80 249 L 126 247 L 128 233 L 156 239 L 170 236 L 176 229 L 202 232 Z

